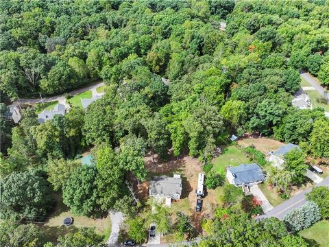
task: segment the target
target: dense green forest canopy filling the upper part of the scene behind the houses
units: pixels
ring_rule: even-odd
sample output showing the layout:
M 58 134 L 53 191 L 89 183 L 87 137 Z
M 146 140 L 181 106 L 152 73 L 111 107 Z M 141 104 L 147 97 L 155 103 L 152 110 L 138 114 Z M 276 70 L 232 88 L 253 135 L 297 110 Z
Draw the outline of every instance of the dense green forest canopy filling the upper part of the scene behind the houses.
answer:
M 329 86 L 326 0 L 1 1 L 0 10 L 2 102 L 108 86 L 85 112 L 44 124 L 26 108 L 13 125 L 0 103 L 3 219 L 46 216 L 49 190 L 99 217 L 123 207 L 128 174 L 145 179 L 147 152 L 166 159 L 173 148 L 208 163 L 230 134 L 329 158 L 324 110 L 291 106 L 301 70 Z M 95 165 L 75 161 L 89 148 Z

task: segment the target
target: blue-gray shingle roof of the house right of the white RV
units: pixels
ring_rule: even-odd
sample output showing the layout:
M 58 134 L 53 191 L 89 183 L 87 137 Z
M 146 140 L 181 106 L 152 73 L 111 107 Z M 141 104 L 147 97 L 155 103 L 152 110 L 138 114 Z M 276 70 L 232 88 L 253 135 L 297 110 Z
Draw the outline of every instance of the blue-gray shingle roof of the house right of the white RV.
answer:
M 263 170 L 254 163 L 241 164 L 237 167 L 230 167 L 228 170 L 234 174 L 234 183 L 237 186 L 264 180 Z

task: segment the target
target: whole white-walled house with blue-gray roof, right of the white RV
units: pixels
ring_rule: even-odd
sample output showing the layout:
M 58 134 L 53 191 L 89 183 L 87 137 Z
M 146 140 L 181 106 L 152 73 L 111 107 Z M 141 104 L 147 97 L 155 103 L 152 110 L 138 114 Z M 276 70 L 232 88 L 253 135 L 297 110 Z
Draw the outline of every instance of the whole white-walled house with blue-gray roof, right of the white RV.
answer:
M 226 178 L 231 185 L 248 187 L 248 190 L 250 186 L 263 183 L 265 180 L 262 168 L 255 163 L 229 167 L 226 171 Z

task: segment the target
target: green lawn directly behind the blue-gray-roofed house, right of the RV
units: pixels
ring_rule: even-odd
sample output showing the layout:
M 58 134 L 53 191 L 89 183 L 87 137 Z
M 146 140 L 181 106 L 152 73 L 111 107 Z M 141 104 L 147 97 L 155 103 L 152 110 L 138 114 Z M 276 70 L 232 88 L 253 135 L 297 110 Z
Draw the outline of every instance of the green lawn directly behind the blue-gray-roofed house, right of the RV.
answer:
M 225 176 L 225 167 L 240 165 L 241 163 L 252 163 L 236 146 L 229 145 L 223 148 L 222 154 L 213 161 L 212 171 Z

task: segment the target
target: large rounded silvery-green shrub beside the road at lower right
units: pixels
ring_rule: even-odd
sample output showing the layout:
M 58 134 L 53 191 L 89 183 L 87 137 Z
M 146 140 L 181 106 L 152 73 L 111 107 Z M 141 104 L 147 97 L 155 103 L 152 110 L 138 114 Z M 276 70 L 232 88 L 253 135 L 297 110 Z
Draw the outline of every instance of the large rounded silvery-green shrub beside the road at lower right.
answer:
M 320 210 L 315 202 L 306 202 L 301 207 L 293 209 L 284 215 L 284 222 L 291 231 L 301 231 L 320 220 Z

